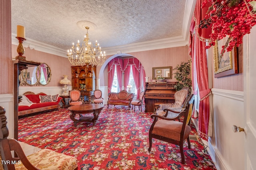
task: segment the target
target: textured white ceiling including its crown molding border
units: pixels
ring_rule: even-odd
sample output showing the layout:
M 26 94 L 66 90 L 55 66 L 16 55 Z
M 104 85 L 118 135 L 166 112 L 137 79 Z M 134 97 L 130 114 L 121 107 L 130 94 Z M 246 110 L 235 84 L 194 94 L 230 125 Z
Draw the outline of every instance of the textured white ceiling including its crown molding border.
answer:
M 24 46 L 64 56 L 80 42 L 90 21 L 90 41 L 98 40 L 107 55 L 188 43 L 196 0 L 11 0 L 12 42 L 17 25 L 26 28 Z M 57 54 L 58 55 L 58 54 Z

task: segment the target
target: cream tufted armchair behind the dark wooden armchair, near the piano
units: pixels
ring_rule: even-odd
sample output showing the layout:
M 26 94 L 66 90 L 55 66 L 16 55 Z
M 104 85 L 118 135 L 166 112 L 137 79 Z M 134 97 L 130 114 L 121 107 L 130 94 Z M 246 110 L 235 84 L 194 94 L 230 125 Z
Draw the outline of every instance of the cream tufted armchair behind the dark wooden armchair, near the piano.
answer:
M 164 109 L 172 109 L 174 111 L 181 111 L 182 106 L 184 105 L 186 98 L 188 97 L 189 89 L 187 87 L 182 88 L 174 94 L 175 102 L 172 104 L 160 104 L 160 107 L 157 109 L 156 114 L 163 116 L 166 111 Z M 174 117 L 176 113 L 174 113 Z

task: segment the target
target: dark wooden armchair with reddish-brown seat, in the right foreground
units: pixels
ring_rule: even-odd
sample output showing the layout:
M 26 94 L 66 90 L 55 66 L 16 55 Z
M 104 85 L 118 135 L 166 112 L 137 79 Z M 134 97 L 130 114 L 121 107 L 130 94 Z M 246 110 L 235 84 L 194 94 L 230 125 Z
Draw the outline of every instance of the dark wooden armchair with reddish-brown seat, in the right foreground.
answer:
M 151 118 L 154 118 L 149 130 L 149 148 L 150 152 L 152 147 L 152 138 L 159 139 L 168 143 L 172 143 L 180 146 L 181 162 L 185 163 L 183 144 L 184 141 L 188 141 L 188 148 L 190 149 L 189 134 L 191 131 L 190 120 L 192 115 L 192 109 L 194 105 L 193 94 L 190 96 L 186 107 L 182 108 L 181 112 L 173 111 L 170 109 L 164 109 L 167 113 L 164 116 L 152 114 Z M 169 117 L 168 112 L 172 111 L 177 113 L 176 117 Z M 180 117 L 184 117 L 183 122 L 176 121 Z

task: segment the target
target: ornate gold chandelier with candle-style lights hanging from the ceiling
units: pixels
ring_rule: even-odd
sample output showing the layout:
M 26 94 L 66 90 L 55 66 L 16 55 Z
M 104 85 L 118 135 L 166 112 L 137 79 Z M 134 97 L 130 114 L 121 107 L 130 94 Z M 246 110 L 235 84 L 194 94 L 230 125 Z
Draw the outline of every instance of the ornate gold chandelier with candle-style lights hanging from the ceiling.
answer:
M 68 60 L 72 65 L 76 66 L 101 66 L 105 63 L 106 60 L 105 51 L 102 53 L 100 44 L 97 42 L 97 40 L 95 43 L 95 47 L 93 47 L 92 43 L 89 42 L 89 27 L 85 28 L 87 32 L 86 35 L 84 35 L 84 42 L 82 43 L 82 46 L 80 46 L 79 40 L 76 46 L 73 43 L 72 49 L 68 50 Z

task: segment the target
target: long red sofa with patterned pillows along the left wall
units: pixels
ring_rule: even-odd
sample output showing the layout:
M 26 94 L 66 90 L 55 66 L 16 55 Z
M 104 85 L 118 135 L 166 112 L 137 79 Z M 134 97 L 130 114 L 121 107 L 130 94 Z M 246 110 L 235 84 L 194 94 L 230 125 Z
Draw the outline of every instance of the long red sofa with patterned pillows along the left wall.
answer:
M 26 92 L 22 98 L 18 106 L 18 116 L 59 108 L 59 103 L 63 100 L 58 94 L 51 96 L 42 92 L 38 94 Z

